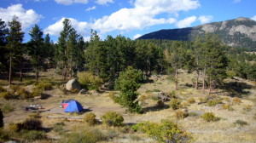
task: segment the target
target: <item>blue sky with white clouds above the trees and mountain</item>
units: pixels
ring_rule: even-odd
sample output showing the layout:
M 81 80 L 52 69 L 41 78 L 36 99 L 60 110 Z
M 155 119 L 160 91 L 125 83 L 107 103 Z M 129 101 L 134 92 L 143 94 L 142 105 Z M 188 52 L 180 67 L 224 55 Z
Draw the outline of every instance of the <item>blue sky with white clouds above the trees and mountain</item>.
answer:
M 134 39 L 160 29 L 198 26 L 246 17 L 256 20 L 255 0 L 0 0 L 0 19 L 19 17 L 28 31 L 38 24 L 56 42 L 68 18 L 85 40 L 90 29 L 104 39 L 121 34 Z

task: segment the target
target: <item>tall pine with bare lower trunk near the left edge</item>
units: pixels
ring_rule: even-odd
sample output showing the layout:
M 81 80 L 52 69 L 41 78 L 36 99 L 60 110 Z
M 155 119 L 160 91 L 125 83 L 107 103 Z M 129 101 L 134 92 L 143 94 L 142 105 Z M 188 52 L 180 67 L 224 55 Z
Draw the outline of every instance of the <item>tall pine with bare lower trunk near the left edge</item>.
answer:
M 9 84 L 12 83 L 13 58 L 22 56 L 23 54 L 23 37 L 24 32 L 21 31 L 21 24 L 18 21 L 18 17 L 14 16 L 13 20 L 9 22 L 9 35 L 7 37 L 7 49 L 9 50 Z

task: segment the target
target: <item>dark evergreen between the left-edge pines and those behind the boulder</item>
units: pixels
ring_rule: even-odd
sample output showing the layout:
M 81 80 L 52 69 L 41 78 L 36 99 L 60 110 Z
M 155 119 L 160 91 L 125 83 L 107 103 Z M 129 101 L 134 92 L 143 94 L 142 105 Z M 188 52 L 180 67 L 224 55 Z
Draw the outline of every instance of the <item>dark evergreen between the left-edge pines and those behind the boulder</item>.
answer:
M 44 65 L 44 58 L 46 50 L 44 50 L 44 38 L 43 31 L 39 28 L 38 25 L 32 27 L 32 30 L 29 31 L 31 40 L 28 42 L 28 54 L 31 55 L 32 66 L 36 73 L 36 80 L 38 80 L 40 67 Z

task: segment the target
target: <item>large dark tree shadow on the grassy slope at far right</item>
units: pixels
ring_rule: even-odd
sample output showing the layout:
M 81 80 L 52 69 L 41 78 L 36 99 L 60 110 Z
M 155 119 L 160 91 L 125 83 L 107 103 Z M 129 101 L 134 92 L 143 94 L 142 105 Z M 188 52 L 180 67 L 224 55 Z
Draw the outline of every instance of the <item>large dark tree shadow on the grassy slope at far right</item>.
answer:
M 251 92 L 245 91 L 245 89 L 252 89 L 253 86 L 249 85 L 247 83 L 241 83 L 241 82 L 230 82 L 230 83 L 224 83 L 224 87 L 221 89 L 225 89 L 227 92 L 230 93 L 231 97 L 242 97 L 242 95 L 248 95 Z

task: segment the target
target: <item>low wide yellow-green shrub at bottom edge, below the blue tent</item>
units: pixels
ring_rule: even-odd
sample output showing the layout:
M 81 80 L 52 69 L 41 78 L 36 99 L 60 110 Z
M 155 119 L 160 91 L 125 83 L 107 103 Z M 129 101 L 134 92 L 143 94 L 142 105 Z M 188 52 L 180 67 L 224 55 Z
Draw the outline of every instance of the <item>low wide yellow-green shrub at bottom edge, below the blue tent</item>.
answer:
M 99 130 L 83 130 L 63 134 L 60 143 L 96 143 L 101 140 L 107 140 L 108 137 Z

